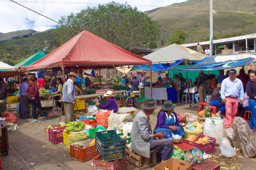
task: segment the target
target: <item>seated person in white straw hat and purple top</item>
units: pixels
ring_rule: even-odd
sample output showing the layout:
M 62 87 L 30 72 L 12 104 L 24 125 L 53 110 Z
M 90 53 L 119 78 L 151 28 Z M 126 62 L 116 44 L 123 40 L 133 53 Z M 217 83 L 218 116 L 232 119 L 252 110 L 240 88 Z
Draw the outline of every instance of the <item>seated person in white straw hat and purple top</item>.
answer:
M 109 90 L 107 91 L 107 93 L 104 94 L 104 96 L 107 98 L 107 103 L 105 103 L 104 105 L 96 103 L 96 106 L 98 106 L 100 109 L 113 110 L 114 113 L 117 113 L 118 107 L 113 92 Z

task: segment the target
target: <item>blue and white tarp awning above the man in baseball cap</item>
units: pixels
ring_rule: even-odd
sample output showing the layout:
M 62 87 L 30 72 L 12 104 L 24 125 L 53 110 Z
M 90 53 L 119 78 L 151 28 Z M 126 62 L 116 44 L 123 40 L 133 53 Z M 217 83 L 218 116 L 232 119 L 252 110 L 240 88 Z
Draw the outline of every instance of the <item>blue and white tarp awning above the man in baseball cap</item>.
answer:
M 256 62 L 256 55 L 253 54 L 238 54 L 205 57 L 200 61 L 194 61 L 196 64 L 189 67 L 174 68 L 182 71 L 199 71 L 199 70 L 222 70 L 233 67 L 240 67 Z

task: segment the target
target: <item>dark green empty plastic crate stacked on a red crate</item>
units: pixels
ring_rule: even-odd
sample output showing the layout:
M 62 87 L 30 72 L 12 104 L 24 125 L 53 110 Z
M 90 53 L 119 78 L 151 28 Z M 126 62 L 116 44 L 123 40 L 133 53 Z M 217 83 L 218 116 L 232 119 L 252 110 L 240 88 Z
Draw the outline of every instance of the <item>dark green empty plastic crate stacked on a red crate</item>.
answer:
M 115 130 L 95 132 L 95 145 L 104 161 L 124 158 L 125 139 L 122 139 Z

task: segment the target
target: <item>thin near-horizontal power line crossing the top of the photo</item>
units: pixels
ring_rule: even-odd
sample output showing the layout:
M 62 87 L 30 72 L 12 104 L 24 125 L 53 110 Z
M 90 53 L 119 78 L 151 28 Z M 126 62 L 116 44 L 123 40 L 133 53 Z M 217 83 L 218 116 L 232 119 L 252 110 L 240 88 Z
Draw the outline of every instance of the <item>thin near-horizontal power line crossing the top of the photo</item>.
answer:
M 7 0 L 0 0 L 0 2 L 10 2 Z M 59 3 L 59 4 L 100 4 L 104 5 L 106 3 L 87 3 L 87 2 L 43 2 L 43 1 L 16 1 L 16 2 L 25 2 L 25 3 Z M 110 5 L 118 5 L 116 3 L 109 3 Z M 188 7 L 174 7 L 174 6 L 155 6 L 155 5 L 136 5 L 136 4 L 129 4 L 131 6 L 142 6 L 142 7 L 156 7 L 156 8 L 181 8 L 181 9 L 192 9 L 192 10 L 205 10 L 209 11 L 210 9 L 203 9 L 203 8 L 188 8 Z M 213 9 L 214 11 L 220 11 L 220 12 L 235 12 L 235 13 L 248 13 L 248 14 L 256 14 L 256 12 L 245 12 L 245 11 L 228 11 L 228 10 L 217 10 Z

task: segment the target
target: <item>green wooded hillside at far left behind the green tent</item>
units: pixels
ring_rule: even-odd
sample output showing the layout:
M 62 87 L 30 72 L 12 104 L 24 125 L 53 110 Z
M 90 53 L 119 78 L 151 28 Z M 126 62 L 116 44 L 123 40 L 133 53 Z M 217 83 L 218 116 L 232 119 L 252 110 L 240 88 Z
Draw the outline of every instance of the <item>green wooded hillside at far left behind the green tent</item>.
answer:
M 0 59 L 3 53 L 9 53 L 14 59 L 32 55 L 44 49 L 44 41 L 47 40 L 48 32 L 37 33 L 32 36 L 10 40 L 0 43 Z

